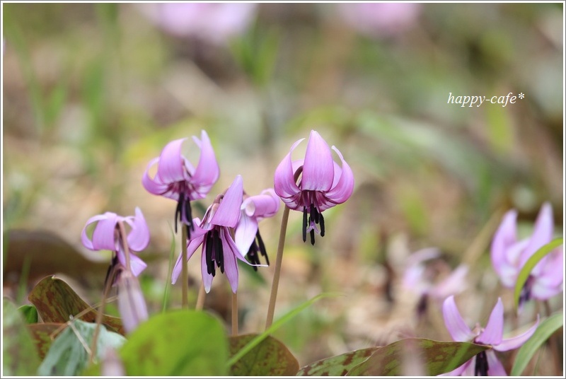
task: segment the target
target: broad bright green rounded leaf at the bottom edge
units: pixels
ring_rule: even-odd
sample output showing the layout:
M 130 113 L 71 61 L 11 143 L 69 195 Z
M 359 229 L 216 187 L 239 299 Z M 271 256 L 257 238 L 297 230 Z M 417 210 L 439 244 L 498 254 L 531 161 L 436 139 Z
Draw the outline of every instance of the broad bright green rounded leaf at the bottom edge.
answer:
M 178 310 L 141 323 L 120 356 L 130 376 L 225 376 L 228 351 L 224 326 L 216 317 Z

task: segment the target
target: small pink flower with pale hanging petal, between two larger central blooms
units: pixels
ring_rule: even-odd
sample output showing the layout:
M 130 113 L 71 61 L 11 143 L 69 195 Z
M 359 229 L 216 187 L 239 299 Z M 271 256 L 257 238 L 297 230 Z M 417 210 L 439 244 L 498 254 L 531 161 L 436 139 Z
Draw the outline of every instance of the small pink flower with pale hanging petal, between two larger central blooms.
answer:
M 271 188 L 265 189 L 261 194 L 245 197 L 242 202 L 240 221 L 236 225 L 234 240 L 238 250 L 241 254 L 245 254 L 252 264 L 260 264 L 258 252 L 265 257 L 267 265 L 270 264 L 258 223 L 263 218 L 275 216 L 278 210 L 279 197 Z M 255 242 L 256 239 L 257 243 Z M 258 270 L 256 266 L 253 269 Z

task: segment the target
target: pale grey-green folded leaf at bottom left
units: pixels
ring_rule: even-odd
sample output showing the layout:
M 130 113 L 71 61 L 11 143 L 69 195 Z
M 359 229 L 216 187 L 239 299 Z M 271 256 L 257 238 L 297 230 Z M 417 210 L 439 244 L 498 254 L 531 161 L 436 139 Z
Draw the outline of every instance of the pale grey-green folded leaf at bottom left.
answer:
M 37 370 L 37 375 L 72 376 L 81 373 L 88 363 L 91 343 L 96 330 L 96 324 L 74 320 L 69 323 L 51 344 L 45 359 Z M 108 332 L 100 325 L 96 343 L 96 356 L 102 359 L 105 349 L 117 349 L 126 339 L 115 332 Z

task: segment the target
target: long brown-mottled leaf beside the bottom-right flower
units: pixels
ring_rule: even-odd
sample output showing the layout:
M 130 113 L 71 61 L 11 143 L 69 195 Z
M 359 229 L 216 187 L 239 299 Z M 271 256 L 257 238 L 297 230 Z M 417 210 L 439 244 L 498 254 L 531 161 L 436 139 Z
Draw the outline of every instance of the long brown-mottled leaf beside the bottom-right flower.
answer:
M 432 339 L 401 339 L 377 349 L 364 362 L 348 371 L 347 376 L 403 375 L 403 369 L 417 363 L 422 375 L 447 373 L 469 361 L 490 346 L 468 342 L 439 342 Z

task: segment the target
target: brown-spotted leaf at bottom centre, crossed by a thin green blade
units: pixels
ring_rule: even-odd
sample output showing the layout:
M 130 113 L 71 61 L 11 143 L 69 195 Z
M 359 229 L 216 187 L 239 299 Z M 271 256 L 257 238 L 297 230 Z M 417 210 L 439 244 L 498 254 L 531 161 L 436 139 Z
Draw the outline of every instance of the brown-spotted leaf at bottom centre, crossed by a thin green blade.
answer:
M 230 356 L 236 354 L 258 334 L 230 337 Z M 230 368 L 234 376 L 289 376 L 299 371 L 299 362 L 287 346 L 274 337 L 267 337 Z

